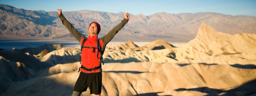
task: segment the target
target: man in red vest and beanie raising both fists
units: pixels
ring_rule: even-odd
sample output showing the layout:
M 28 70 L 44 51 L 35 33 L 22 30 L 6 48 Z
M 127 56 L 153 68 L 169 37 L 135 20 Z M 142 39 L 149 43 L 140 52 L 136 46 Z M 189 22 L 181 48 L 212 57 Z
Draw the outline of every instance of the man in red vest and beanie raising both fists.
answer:
M 128 23 L 130 14 L 124 13 L 124 20 L 110 30 L 107 35 L 98 39 L 98 34 L 100 33 L 99 23 L 91 22 L 88 29 L 89 36 L 86 37 L 79 33 L 75 27 L 73 27 L 73 25 L 66 20 L 61 9 L 57 9 L 57 11 L 62 24 L 80 42 L 82 46 L 82 66 L 79 68 L 81 72 L 74 86 L 72 96 L 80 96 L 81 93 L 85 92 L 88 87 L 92 96 L 100 96 L 102 81 L 102 68 L 100 60 L 102 60 L 102 55 L 105 51 L 106 44 L 108 44 L 109 41 L 118 33 L 118 31 L 121 30 L 126 23 Z

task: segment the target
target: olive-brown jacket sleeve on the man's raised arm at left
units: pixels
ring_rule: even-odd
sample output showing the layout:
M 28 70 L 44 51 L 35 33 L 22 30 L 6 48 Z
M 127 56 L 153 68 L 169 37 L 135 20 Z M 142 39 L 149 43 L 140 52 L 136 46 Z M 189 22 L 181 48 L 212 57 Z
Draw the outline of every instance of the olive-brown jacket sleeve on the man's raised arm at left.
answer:
M 69 32 L 76 38 L 77 41 L 81 44 L 81 39 L 85 38 L 85 36 L 81 33 L 79 33 L 76 28 L 64 17 L 64 15 L 61 13 L 59 14 L 59 18 L 62 21 L 62 24 L 69 30 Z

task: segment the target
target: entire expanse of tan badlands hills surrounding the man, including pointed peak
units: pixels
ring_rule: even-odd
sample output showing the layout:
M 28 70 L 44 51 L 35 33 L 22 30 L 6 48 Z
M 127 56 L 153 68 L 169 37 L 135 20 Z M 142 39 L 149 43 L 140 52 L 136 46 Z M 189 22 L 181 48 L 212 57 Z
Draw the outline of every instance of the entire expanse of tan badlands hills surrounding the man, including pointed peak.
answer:
M 179 47 L 163 40 L 141 47 L 132 41 L 107 45 L 101 95 L 254 96 L 255 41 L 255 34 L 229 35 L 201 24 L 196 37 Z M 17 49 L 0 51 L 0 96 L 71 95 L 80 52 L 79 47 L 62 47 L 39 54 L 38 60 Z M 90 96 L 89 89 L 82 96 Z

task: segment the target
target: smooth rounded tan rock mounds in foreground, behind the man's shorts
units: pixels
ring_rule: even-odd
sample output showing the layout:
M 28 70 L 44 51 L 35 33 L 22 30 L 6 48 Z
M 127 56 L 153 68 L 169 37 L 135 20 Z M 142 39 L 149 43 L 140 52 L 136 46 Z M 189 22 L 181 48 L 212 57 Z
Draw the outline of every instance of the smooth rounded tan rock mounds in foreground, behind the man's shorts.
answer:
M 79 65 L 79 62 L 56 65 L 48 69 L 48 75 L 12 83 L 1 96 L 71 95 L 76 78 L 79 76 L 77 73 Z M 72 70 L 63 71 L 69 69 Z M 239 96 L 242 96 L 245 95 L 242 93 L 256 92 L 255 73 L 256 69 L 234 68 L 230 65 L 191 64 L 180 67 L 171 63 L 106 63 L 103 66 L 101 95 L 203 96 L 240 93 Z M 24 84 L 27 86 L 23 86 Z M 59 93 L 61 91 L 62 93 Z M 89 96 L 89 92 L 84 92 L 82 96 Z

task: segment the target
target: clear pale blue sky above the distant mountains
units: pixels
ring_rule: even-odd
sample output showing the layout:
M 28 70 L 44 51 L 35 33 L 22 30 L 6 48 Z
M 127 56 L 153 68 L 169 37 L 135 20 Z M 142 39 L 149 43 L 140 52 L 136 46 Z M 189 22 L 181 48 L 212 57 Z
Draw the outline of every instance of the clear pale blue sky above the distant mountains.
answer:
M 155 13 L 216 12 L 227 15 L 256 16 L 256 0 L 0 0 L 25 10 L 128 12 L 145 16 Z

